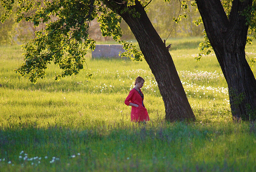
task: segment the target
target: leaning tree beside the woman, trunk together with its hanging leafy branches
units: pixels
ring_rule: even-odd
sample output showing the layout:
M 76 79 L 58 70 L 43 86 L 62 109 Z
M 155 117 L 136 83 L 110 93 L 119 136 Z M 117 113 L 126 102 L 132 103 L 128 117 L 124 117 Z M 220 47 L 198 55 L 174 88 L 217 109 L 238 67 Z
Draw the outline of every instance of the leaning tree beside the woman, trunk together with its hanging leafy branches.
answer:
M 103 36 L 112 36 L 124 45 L 123 56 L 142 60 L 144 55 L 154 74 L 165 105 L 165 118 L 168 121 L 194 120 L 195 116 L 188 103 L 172 57 L 164 42 L 152 26 L 144 8 L 147 1 L 122 0 L 38 0 L 17 1 L 16 21 L 32 21 L 35 26 L 47 23 L 46 28 L 36 32 L 33 40 L 23 48 L 25 62 L 16 69 L 22 76 L 28 75 L 31 82 L 43 78 L 47 63 L 58 64 L 62 73 L 55 77 L 59 80 L 83 69 L 84 55 L 88 49 L 94 49 L 95 41 L 89 37 L 90 22 L 95 18 L 100 22 Z M 3 20 L 12 12 L 14 0 L 1 0 L 6 9 Z M 131 28 L 140 51 L 134 45 L 122 41 L 121 18 Z M 51 21 L 55 15 L 58 20 Z M 2 20 L 2 21 L 3 21 Z M 88 75 L 90 77 L 90 75 Z

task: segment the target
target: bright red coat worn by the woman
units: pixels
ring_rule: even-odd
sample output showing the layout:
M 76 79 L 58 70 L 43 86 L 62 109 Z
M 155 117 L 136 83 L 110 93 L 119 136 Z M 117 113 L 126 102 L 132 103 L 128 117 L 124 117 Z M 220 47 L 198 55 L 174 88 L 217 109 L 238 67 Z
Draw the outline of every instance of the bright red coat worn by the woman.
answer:
M 129 95 L 125 99 L 124 103 L 127 106 L 129 106 L 130 103 L 139 105 L 138 107 L 132 106 L 131 121 L 149 121 L 148 111 L 142 104 L 143 99 L 144 98 L 141 98 L 140 93 L 134 88 L 130 91 Z

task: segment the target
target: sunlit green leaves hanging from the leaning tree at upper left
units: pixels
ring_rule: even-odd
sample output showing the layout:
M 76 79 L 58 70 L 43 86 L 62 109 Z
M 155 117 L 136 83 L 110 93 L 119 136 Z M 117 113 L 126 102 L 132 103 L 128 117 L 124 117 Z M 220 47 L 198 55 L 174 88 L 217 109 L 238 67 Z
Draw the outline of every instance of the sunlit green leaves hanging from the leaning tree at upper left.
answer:
M 36 31 L 33 40 L 22 46 L 25 50 L 24 63 L 15 69 L 22 76 L 28 75 L 31 82 L 44 78 L 47 64 L 53 62 L 62 72 L 55 80 L 84 69 L 85 55 L 95 49 L 95 41 L 90 38 L 90 22 L 97 19 L 103 36 L 124 45 L 127 50 L 121 56 L 142 60 L 143 55 L 131 43 L 121 40 L 121 18 L 99 0 L 0 0 L 5 12 L 1 15 L 4 22 L 12 13 L 16 21 L 32 21 L 35 27 L 44 26 Z M 129 1 L 132 5 L 132 1 Z M 134 15 L 134 17 L 138 17 Z M 87 68 L 88 70 L 88 68 Z M 87 78 L 90 79 L 89 73 Z

